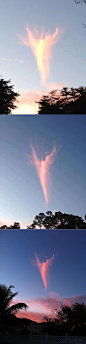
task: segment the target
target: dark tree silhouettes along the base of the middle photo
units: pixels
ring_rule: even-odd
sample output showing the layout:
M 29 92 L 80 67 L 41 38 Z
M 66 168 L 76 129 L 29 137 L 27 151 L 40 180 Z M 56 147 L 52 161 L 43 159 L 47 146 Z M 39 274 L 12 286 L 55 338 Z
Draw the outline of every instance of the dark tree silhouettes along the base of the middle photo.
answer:
M 60 211 L 52 213 L 47 211 L 35 216 L 35 220 L 27 229 L 86 229 L 86 223 L 77 215 L 63 214 Z

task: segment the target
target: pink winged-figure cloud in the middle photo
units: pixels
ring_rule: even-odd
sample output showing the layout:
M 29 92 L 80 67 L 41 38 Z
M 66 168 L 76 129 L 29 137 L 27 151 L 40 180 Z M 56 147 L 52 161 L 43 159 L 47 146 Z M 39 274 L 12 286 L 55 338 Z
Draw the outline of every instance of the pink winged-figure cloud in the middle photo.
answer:
M 43 194 L 45 197 L 45 202 L 46 204 L 48 203 L 48 191 L 47 191 L 47 185 L 49 184 L 49 168 L 50 165 L 53 163 L 53 157 L 55 156 L 56 153 L 56 147 L 52 149 L 51 153 L 48 155 L 46 153 L 45 160 L 39 160 L 39 158 L 36 155 L 35 149 L 33 148 L 32 144 L 30 143 L 30 147 L 32 149 L 32 156 L 26 154 L 27 156 L 27 163 L 28 165 L 31 163 L 32 165 L 35 166 Z

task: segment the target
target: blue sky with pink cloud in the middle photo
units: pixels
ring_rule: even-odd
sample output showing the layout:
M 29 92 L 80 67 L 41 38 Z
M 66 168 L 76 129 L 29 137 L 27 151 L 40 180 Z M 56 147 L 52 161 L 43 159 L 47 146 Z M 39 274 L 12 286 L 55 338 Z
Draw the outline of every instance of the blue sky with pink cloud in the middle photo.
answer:
M 0 117 L 0 226 L 86 214 L 86 116 Z

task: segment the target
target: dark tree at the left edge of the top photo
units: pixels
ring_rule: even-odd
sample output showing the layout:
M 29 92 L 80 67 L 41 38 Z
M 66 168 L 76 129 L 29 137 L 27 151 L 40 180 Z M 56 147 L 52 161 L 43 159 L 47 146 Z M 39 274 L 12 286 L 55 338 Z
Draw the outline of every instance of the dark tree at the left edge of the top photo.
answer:
M 11 80 L 5 81 L 0 79 L 0 114 L 11 114 L 12 109 L 16 109 L 14 105 L 16 98 L 20 96 L 19 93 L 13 91 L 14 85 L 10 86 Z

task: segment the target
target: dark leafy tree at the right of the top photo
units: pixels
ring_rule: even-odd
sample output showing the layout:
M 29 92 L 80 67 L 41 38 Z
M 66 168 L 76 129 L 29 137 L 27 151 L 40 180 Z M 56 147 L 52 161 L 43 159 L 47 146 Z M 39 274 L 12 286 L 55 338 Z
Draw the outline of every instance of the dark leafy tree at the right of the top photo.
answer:
M 86 114 L 86 87 L 63 87 L 39 100 L 38 114 Z

